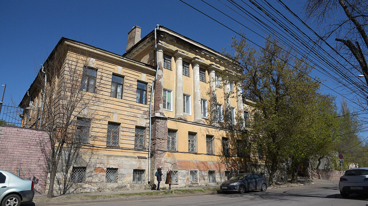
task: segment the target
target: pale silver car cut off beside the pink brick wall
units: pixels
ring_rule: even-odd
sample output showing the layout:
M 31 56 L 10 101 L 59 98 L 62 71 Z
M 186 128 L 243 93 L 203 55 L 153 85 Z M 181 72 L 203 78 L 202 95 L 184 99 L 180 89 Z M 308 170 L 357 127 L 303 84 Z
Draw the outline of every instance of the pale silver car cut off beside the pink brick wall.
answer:
M 35 191 L 31 180 L 23 180 L 15 174 L 0 170 L 1 206 L 20 206 L 21 202 L 32 201 Z

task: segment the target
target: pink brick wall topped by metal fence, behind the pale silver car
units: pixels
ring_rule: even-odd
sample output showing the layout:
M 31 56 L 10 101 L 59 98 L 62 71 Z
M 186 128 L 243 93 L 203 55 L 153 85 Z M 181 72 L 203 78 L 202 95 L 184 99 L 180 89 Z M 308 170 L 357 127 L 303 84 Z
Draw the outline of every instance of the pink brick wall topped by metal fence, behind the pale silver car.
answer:
M 0 170 L 35 181 L 36 194 L 44 194 L 49 138 L 44 130 L 0 125 Z

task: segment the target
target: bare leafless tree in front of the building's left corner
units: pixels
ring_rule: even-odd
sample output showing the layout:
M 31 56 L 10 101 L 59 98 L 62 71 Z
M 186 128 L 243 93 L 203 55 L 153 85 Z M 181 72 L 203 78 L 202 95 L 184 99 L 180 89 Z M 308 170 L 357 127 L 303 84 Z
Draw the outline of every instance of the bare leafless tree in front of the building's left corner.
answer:
M 33 125 L 46 130 L 50 140 L 48 198 L 53 194 L 63 150 L 88 145 L 91 140 L 100 138 L 89 128 L 92 122 L 106 119 L 106 115 L 96 109 L 105 104 L 101 98 L 103 76 L 95 67 L 90 67 L 93 62 L 89 56 L 88 51 L 67 44 L 57 46 L 36 77 L 40 113 L 24 115 Z

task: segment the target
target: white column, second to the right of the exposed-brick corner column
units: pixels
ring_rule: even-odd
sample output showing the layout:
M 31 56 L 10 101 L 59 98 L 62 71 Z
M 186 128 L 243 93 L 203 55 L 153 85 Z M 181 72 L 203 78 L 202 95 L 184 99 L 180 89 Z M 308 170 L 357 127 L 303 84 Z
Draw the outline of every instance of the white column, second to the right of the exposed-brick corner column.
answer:
M 194 57 L 193 63 L 193 100 L 194 100 L 194 120 L 193 122 L 202 123 L 202 105 L 201 105 L 201 84 L 199 81 L 199 64 L 204 63 L 202 59 Z

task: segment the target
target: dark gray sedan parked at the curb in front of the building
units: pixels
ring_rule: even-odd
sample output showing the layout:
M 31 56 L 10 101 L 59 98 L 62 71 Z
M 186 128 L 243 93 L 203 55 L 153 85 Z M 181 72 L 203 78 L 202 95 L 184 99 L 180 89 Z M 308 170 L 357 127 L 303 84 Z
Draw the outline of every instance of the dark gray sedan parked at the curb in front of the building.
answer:
M 241 173 L 231 177 L 221 183 L 222 192 L 239 192 L 243 194 L 246 191 L 260 189 L 265 192 L 268 188 L 268 180 L 260 174 Z

